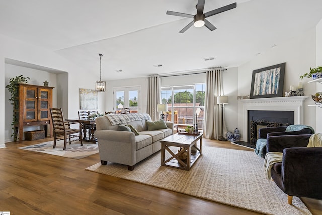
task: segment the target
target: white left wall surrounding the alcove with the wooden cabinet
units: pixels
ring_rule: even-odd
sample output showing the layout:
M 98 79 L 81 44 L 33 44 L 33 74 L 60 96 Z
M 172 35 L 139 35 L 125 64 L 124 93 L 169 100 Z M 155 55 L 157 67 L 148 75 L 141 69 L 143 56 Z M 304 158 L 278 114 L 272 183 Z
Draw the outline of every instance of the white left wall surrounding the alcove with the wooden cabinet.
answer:
M 93 73 L 93 71 L 84 70 L 83 68 L 70 61 L 67 61 L 65 58 L 57 55 L 54 52 L 36 46 L 31 46 L 21 41 L 8 38 L 4 35 L 0 35 L 0 47 L 0 98 L 3 99 L 2 102 L 0 102 L 0 116 L 2 116 L 2 118 L 5 118 L 5 103 L 9 102 L 7 99 L 5 99 L 5 92 L 8 91 L 8 89 L 5 88 L 5 86 L 8 84 L 5 78 L 7 67 L 5 63 L 6 58 L 68 73 L 68 77 L 63 75 L 59 75 L 57 77 L 57 86 L 59 86 L 61 83 L 68 83 L 68 86 L 61 86 L 60 94 L 62 94 L 63 98 L 59 99 L 59 102 L 63 103 L 60 104 L 62 107 L 68 108 L 64 110 L 65 118 L 78 118 L 78 110 L 80 106 L 79 88 L 94 89 L 95 81 L 99 80 L 99 71 L 96 74 Z M 28 76 L 28 74 L 24 75 Z M 6 77 L 10 77 L 10 75 L 7 75 Z M 42 85 L 44 80 L 42 76 L 40 77 L 41 78 L 38 76 L 35 77 L 31 82 L 37 82 Z M 56 90 L 57 86 L 54 86 Z M 104 93 L 99 93 L 99 111 L 104 111 L 104 105 Z M 7 130 L 6 136 L 5 130 Z M 8 128 L 5 128 L 5 120 L 0 120 L 0 148 L 5 147 L 5 139 L 8 140 Z

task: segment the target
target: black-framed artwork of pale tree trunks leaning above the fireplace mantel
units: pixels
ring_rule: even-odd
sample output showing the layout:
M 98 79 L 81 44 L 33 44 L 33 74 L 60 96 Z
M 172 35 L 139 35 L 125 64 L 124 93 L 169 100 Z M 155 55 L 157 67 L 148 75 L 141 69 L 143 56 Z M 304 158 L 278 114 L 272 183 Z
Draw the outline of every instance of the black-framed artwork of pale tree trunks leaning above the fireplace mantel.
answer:
M 282 97 L 285 63 L 253 70 L 250 99 Z

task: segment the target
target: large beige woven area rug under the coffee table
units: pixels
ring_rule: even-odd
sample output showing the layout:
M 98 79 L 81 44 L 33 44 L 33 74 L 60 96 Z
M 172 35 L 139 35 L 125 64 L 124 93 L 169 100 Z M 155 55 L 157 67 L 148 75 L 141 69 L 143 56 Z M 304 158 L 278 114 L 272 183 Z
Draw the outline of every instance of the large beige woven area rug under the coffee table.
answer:
M 311 214 L 304 203 L 287 195 L 263 172 L 264 159 L 254 152 L 204 147 L 190 171 L 160 166 L 160 152 L 135 165 L 97 163 L 86 170 L 128 179 L 211 201 L 266 214 Z

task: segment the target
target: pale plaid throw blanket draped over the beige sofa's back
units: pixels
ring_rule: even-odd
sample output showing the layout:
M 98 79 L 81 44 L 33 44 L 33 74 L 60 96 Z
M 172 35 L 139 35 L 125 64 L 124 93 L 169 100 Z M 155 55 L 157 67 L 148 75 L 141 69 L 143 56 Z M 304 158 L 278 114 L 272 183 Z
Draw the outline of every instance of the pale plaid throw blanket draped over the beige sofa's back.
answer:
M 150 115 L 147 113 L 128 113 L 128 114 L 121 114 L 121 115 L 105 115 L 107 117 L 112 125 L 118 125 L 121 123 L 128 123 L 132 121 L 138 121 L 138 120 L 148 120 L 151 121 Z

